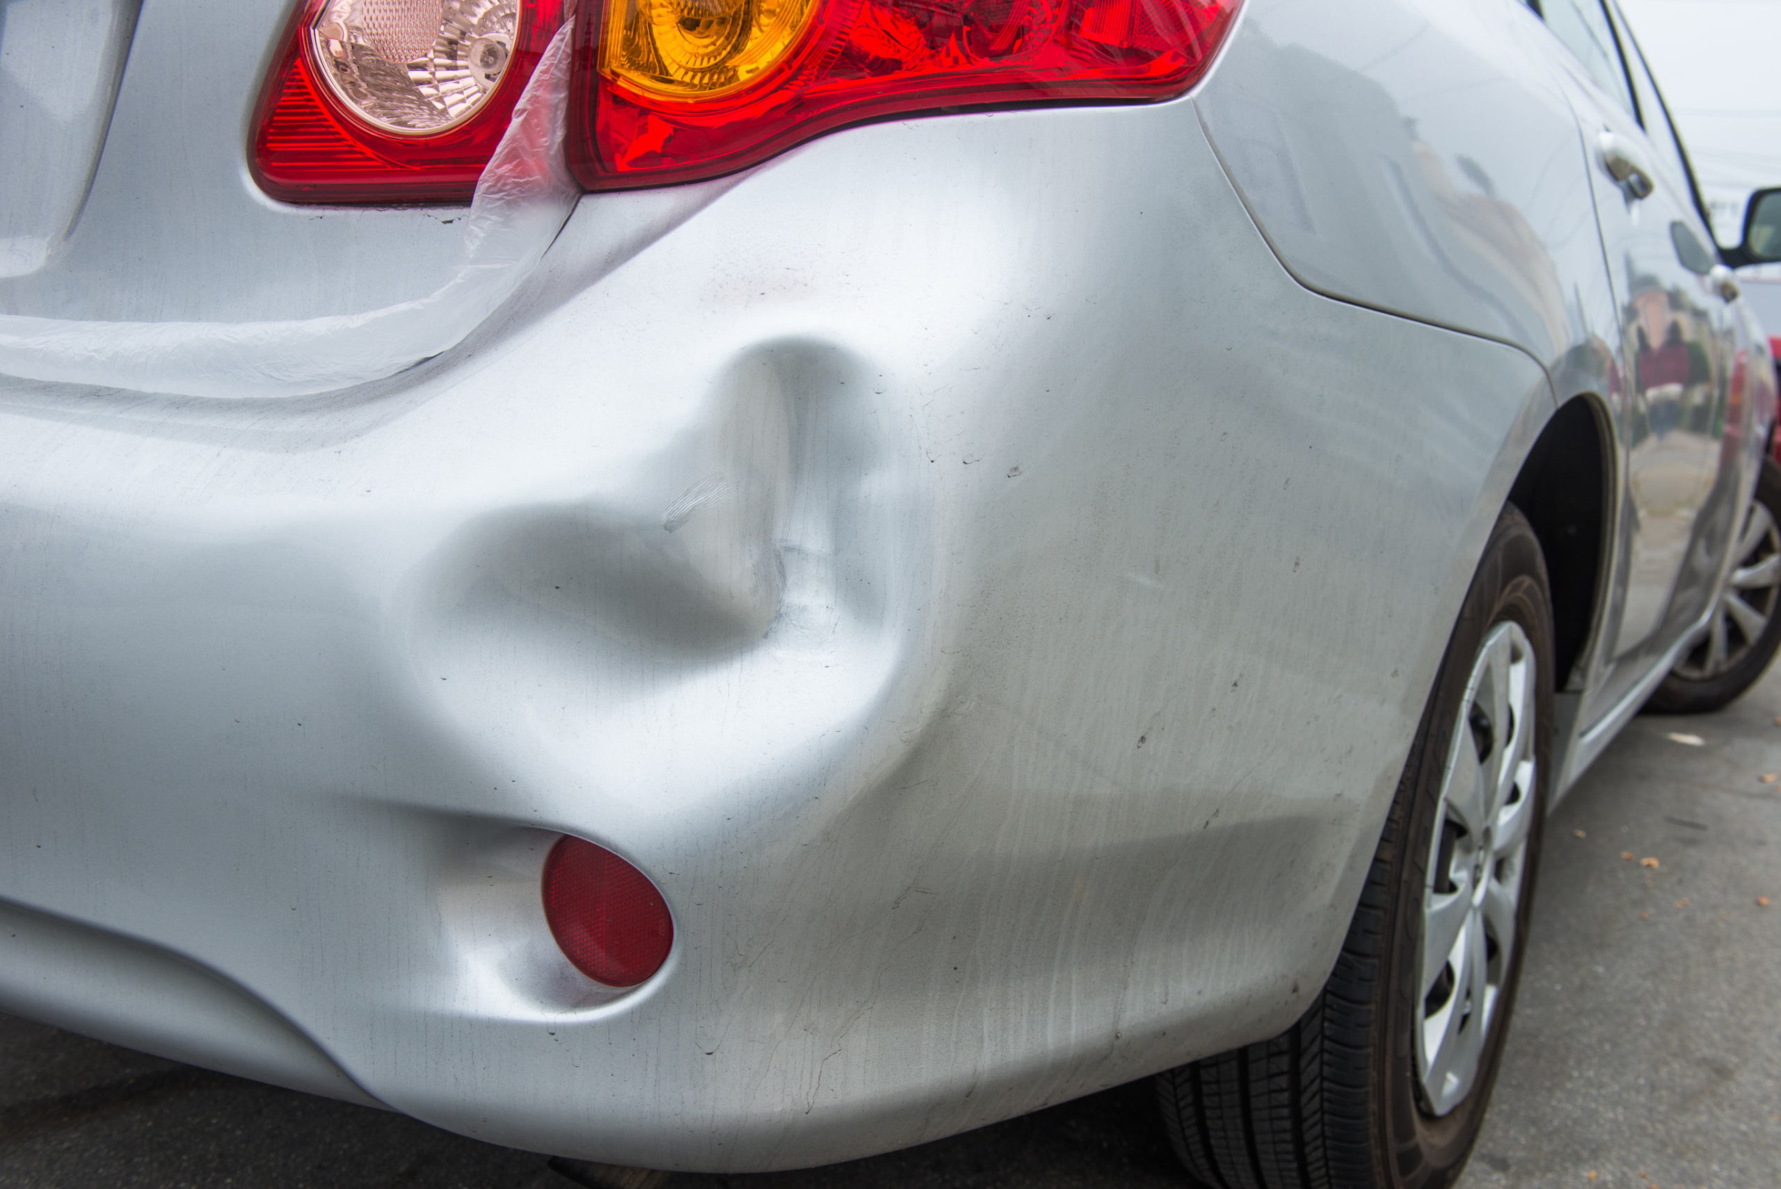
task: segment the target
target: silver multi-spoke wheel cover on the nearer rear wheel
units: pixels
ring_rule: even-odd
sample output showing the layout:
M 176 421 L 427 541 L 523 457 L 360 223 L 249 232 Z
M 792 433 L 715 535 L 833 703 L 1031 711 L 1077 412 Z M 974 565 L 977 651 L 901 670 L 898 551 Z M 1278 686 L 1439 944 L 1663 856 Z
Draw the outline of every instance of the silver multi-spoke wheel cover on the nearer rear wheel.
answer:
M 1416 1073 L 1448 1114 L 1478 1080 L 1509 977 L 1533 826 L 1533 646 L 1517 623 L 1484 637 L 1466 680 L 1423 881 Z

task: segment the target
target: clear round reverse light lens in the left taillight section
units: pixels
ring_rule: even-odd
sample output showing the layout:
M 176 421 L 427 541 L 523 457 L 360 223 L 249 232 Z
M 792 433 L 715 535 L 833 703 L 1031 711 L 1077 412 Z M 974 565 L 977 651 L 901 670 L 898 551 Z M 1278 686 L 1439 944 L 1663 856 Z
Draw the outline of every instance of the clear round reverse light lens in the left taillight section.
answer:
M 310 37 L 322 77 L 354 116 L 424 135 L 488 101 L 518 25 L 518 0 L 331 0 Z

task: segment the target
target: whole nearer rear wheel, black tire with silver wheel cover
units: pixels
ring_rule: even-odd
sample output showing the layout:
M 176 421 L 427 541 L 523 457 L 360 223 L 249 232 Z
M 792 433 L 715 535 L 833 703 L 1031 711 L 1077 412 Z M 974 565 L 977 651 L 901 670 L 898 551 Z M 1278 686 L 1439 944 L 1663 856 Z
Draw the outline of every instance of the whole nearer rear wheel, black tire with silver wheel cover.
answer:
M 1549 781 L 1551 598 L 1503 509 L 1448 641 L 1341 958 L 1273 1039 L 1158 1075 L 1211 1189 L 1452 1185 L 1496 1080 Z

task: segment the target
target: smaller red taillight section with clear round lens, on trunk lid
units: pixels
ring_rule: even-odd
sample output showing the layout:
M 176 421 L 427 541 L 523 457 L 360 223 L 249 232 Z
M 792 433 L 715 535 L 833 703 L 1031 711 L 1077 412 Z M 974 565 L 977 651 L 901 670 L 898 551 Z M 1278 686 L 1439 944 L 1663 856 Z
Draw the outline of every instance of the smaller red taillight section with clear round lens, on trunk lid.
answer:
M 253 176 L 290 203 L 467 203 L 565 0 L 305 0 Z

